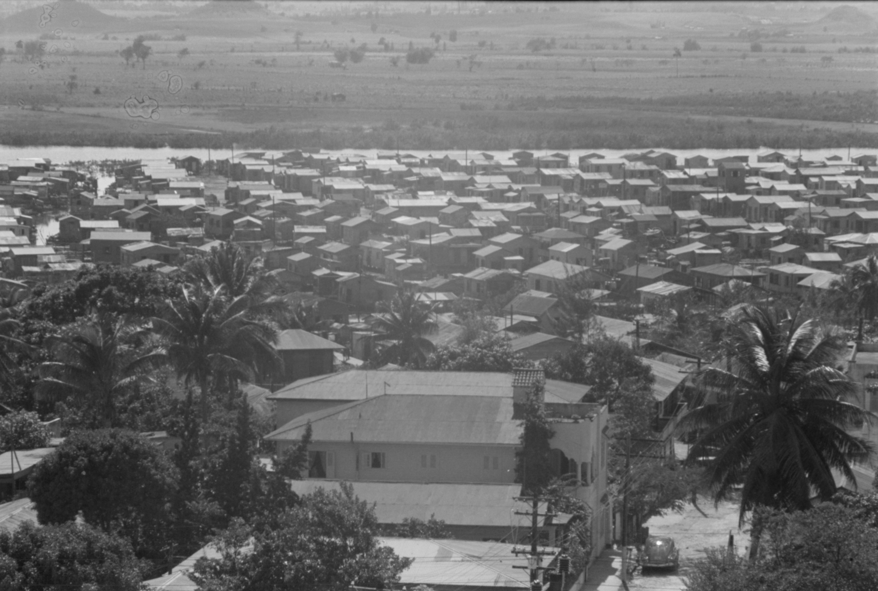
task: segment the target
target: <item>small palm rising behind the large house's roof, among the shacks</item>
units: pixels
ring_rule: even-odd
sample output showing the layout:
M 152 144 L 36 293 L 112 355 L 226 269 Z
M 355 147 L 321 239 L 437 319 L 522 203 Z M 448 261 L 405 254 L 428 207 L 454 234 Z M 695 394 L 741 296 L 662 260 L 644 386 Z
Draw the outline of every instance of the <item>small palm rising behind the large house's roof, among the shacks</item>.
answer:
M 424 335 L 439 329 L 434 306 L 419 302 L 414 293 L 379 302 L 379 313 L 371 319 L 371 328 L 383 333 L 385 346 L 379 350 L 383 362 L 420 366 L 435 346 Z

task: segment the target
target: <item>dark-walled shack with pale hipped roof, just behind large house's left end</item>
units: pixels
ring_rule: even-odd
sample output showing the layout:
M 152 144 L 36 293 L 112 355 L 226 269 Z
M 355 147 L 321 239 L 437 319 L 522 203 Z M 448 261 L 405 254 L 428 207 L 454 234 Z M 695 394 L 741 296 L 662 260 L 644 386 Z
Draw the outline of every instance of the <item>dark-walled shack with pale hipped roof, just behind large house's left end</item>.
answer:
M 332 373 L 335 364 L 333 353 L 344 350 L 339 343 L 300 328 L 280 331 L 273 346 L 283 361 L 283 371 L 263 377 L 262 386 L 271 391 L 297 379 Z

